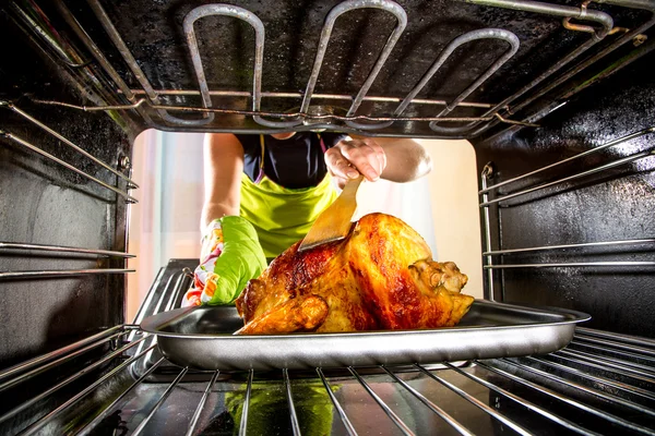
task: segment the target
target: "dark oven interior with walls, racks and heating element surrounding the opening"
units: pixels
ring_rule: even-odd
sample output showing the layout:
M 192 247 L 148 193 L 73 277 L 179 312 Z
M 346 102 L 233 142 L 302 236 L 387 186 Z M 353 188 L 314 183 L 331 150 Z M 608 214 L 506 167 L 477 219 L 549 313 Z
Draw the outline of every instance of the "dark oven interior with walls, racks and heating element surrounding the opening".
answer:
M 0 5 L 3 434 L 655 434 L 655 2 Z M 126 319 L 136 135 L 336 130 L 475 147 L 485 296 L 565 349 L 203 373 Z

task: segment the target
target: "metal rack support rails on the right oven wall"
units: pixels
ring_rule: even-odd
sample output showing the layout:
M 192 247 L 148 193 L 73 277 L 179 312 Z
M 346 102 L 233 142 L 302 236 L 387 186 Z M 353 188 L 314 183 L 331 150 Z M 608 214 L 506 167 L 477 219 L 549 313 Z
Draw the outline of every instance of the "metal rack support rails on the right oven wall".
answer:
M 596 241 L 596 242 L 585 242 L 585 243 L 575 243 L 575 244 L 555 244 L 555 245 L 544 245 L 544 246 L 529 246 L 529 247 L 517 247 L 517 249 L 504 249 L 504 250 L 493 250 L 491 247 L 491 229 L 490 229 L 490 207 L 492 205 L 497 206 L 497 211 L 500 214 L 500 209 L 504 207 L 515 206 L 515 203 L 512 203 L 511 199 L 515 199 L 519 197 L 526 196 L 528 194 L 536 193 L 538 191 L 548 190 L 551 187 L 557 187 L 558 185 L 562 185 L 567 182 L 571 182 L 577 179 L 584 179 L 588 175 L 593 175 L 596 173 L 600 173 L 607 170 L 611 170 L 615 168 L 620 168 L 638 161 L 640 159 L 644 159 L 651 156 L 655 156 L 655 148 L 650 147 L 645 150 L 634 153 L 627 157 L 622 157 L 610 162 L 599 165 L 597 167 L 575 172 L 573 174 L 552 180 L 546 183 L 538 183 L 532 186 L 523 186 L 519 191 L 513 192 L 503 192 L 503 190 L 511 189 L 510 186 L 513 183 L 526 181 L 537 174 L 540 174 L 545 171 L 551 170 L 553 168 L 560 167 L 564 164 L 570 164 L 572 161 L 579 160 L 581 158 L 597 154 L 607 148 L 615 147 L 621 144 L 624 144 L 629 141 L 640 138 L 642 136 L 651 135 L 655 133 L 655 126 L 650 126 L 646 129 L 642 129 L 624 136 L 618 137 L 608 143 L 602 144 L 599 146 L 590 148 L 585 152 L 575 154 L 573 156 L 567 157 L 564 159 L 555 161 L 552 164 L 540 167 L 536 170 L 526 172 L 524 174 L 504 180 L 502 182 L 498 182 L 495 184 L 489 184 L 489 180 L 492 177 L 493 168 L 491 164 L 488 164 L 483 168 L 480 173 L 480 191 L 478 191 L 478 195 L 480 196 L 480 209 L 483 214 L 483 227 L 484 227 L 484 244 L 485 251 L 483 252 L 483 268 L 486 270 L 487 281 L 489 283 L 489 298 L 493 300 L 493 270 L 495 269 L 508 269 L 508 268 L 561 268 L 561 267 L 655 267 L 655 261 L 610 261 L 610 262 L 565 262 L 565 263 L 495 263 L 495 256 L 509 256 L 509 255 L 522 255 L 522 254 L 531 254 L 537 252 L 568 252 L 581 249 L 599 249 L 599 247 L 630 247 L 630 246 L 651 246 L 655 249 L 655 238 L 642 238 L 642 239 L 631 239 L 631 240 L 612 240 L 612 241 Z M 496 193 L 495 198 L 490 198 L 490 194 Z M 557 191 L 552 191 L 552 193 L 557 193 Z M 527 199 L 529 202 L 531 199 Z M 519 203 L 521 204 L 521 203 Z

